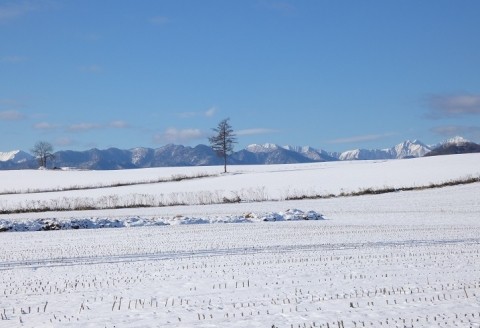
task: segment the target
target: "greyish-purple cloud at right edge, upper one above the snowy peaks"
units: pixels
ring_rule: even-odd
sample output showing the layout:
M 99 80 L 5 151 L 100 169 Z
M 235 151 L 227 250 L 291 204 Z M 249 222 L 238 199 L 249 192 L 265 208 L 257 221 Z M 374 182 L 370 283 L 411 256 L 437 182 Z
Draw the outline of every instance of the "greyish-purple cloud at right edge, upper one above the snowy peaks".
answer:
M 480 95 L 431 95 L 426 98 L 428 118 L 454 118 L 480 114 Z

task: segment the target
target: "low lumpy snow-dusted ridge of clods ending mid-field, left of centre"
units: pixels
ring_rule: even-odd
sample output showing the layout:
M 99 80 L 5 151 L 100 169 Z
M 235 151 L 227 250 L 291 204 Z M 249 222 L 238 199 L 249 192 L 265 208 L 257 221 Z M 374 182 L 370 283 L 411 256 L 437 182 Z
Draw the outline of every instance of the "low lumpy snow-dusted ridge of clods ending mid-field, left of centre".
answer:
M 206 217 L 141 217 L 128 216 L 118 218 L 49 218 L 49 219 L 0 219 L 0 232 L 6 231 L 48 231 L 69 229 L 99 229 L 145 227 L 179 224 L 213 224 L 213 223 L 251 223 L 274 221 L 324 220 L 324 216 L 315 211 L 288 209 L 285 212 L 246 213 L 241 216 L 206 216 Z

